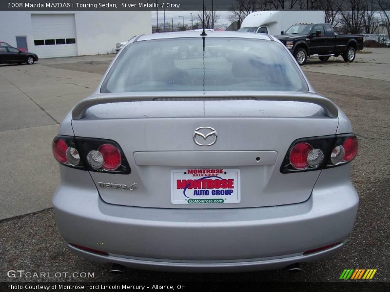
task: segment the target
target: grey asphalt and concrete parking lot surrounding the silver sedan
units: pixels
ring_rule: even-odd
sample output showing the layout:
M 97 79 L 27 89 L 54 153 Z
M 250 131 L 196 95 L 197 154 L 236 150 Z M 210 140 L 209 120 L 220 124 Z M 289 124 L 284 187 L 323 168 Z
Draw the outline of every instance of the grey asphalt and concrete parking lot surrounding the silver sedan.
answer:
M 390 279 L 390 49 L 368 49 L 356 62 L 310 60 L 303 70 L 319 93 L 348 115 L 359 138 L 352 182 L 360 196 L 351 237 L 341 253 L 304 272 L 179 274 L 127 270 L 73 256 L 56 229 L 51 197 L 59 181 L 51 152 L 59 122 L 95 90 L 114 55 L 42 59 L 34 65 L 0 65 L 0 281 L 8 270 L 86 272 L 91 278 L 59 281 L 337 281 L 344 269 L 378 269 L 373 281 Z

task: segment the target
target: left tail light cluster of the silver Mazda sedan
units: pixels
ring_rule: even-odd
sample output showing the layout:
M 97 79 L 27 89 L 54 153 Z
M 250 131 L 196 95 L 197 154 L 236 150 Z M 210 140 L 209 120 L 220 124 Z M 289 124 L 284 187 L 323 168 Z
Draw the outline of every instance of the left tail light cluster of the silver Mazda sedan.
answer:
M 129 174 L 125 155 L 113 140 L 57 136 L 53 154 L 60 164 L 89 171 Z

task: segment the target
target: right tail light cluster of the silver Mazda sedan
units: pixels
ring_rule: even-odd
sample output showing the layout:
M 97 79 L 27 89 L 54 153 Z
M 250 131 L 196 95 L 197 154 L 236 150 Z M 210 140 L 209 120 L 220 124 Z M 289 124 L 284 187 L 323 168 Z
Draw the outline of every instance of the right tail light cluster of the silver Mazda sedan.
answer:
M 280 167 L 281 173 L 311 171 L 350 162 L 357 153 L 353 134 L 330 135 L 295 140 Z

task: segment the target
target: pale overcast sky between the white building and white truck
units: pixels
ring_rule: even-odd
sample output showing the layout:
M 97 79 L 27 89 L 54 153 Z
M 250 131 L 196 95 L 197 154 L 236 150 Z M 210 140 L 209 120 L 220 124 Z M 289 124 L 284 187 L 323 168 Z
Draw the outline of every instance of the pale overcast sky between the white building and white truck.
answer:
M 197 20 L 198 13 L 201 13 L 199 11 L 165 11 L 165 21 L 170 22 L 172 21 L 172 18 L 174 19 L 174 25 L 180 24 L 183 25 L 183 18 L 179 18 L 179 16 L 184 17 L 184 25 L 187 24 L 188 26 L 191 26 L 191 12 L 193 13 L 193 20 L 194 22 Z M 230 25 L 230 21 L 228 20 L 229 11 L 217 11 L 216 14 L 219 16 L 218 21 L 215 25 L 215 28 L 223 26 L 223 25 Z M 164 11 L 158 10 L 158 23 L 164 22 Z M 152 11 L 152 24 L 156 25 L 156 10 Z

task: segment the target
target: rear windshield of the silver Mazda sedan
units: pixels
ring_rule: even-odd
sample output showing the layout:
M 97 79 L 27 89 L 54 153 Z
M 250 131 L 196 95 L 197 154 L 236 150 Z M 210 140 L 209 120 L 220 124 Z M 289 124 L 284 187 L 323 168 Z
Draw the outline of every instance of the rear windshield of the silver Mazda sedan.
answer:
M 171 38 L 128 45 L 101 92 L 308 91 L 282 45 L 246 38 Z

